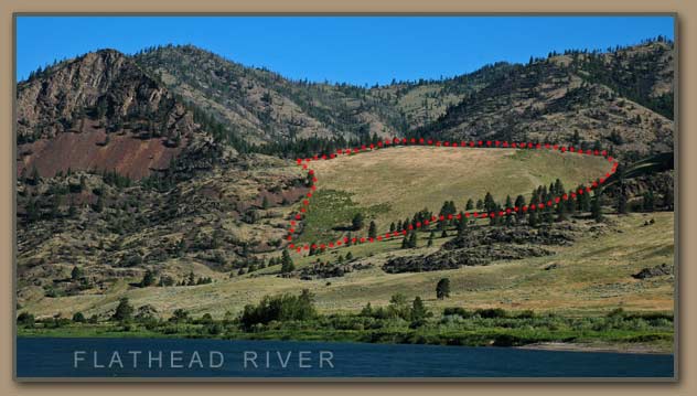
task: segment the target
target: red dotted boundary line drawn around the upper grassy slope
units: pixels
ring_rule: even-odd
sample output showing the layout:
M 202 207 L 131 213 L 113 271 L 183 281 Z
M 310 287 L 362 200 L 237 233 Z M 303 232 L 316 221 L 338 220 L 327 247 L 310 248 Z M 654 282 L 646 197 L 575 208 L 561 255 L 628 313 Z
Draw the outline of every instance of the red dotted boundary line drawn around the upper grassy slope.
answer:
M 366 151 L 374 151 L 374 150 L 379 150 L 383 148 L 389 148 L 389 147 L 394 147 L 394 146 L 409 146 L 409 145 L 414 145 L 414 146 L 433 146 L 433 147 L 447 147 L 447 148 L 518 148 L 518 149 L 534 149 L 534 150 L 540 150 L 540 149 L 546 149 L 546 150 L 554 150 L 554 151 L 559 151 L 561 153 L 568 152 L 568 153 L 578 153 L 578 154 L 582 154 L 582 156 L 602 156 L 604 157 L 610 163 L 612 163 L 612 169 L 607 172 L 604 174 L 604 176 L 598 178 L 593 181 L 589 182 L 589 185 L 586 189 L 579 189 L 576 192 L 571 193 L 571 199 L 576 199 L 577 195 L 581 195 L 585 193 L 590 193 L 592 190 L 597 189 L 598 186 L 600 186 L 600 184 L 604 183 L 605 180 L 608 178 L 610 178 L 610 175 L 612 173 L 614 173 L 618 169 L 618 164 L 619 162 L 616 161 L 616 159 L 612 158 L 611 156 L 608 154 L 607 150 L 582 150 L 581 148 L 573 148 L 573 147 L 566 147 L 566 146 L 560 146 L 560 145 L 551 145 L 551 143 L 533 143 L 533 142 L 508 142 L 508 141 L 500 141 L 500 140 L 479 140 L 479 141 L 440 141 L 440 140 L 432 140 L 432 139 L 423 139 L 423 138 L 411 138 L 411 139 L 407 139 L 407 138 L 394 138 L 394 139 L 386 139 L 384 141 L 378 141 L 377 143 L 372 143 L 372 145 L 363 145 L 361 147 L 355 147 L 355 148 L 350 148 L 350 149 L 339 149 L 336 150 L 335 153 L 330 153 L 328 154 L 315 154 L 312 158 L 299 158 L 296 160 L 297 164 L 299 167 L 302 167 L 303 170 L 308 171 L 308 176 L 312 178 L 312 186 L 311 186 L 311 191 L 307 194 L 307 196 L 302 200 L 302 206 L 300 207 L 300 211 L 297 213 L 293 213 L 291 215 L 291 221 L 290 221 L 290 225 L 288 227 L 288 235 L 286 236 L 286 240 L 288 242 L 288 247 L 292 250 L 294 249 L 297 253 L 302 253 L 302 250 L 310 250 L 310 248 L 313 249 L 329 249 L 329 248 L 335 248 L 335 247 L 341 247 L 342 245 L 346 245 L 349 244 L 349 237 L 343 237 L 336 240 L 332 240 L 332 242 L 328 242 L 328 243 L 315 243 L 312 245 L 305 244 L 305 245 L 299 245 L 296 246 L 292 240 L 293 240 L 293 234 L 297 231 L 297 226 L 299 224 L 299 222 L 302 221 L 302 218 L 304 217 L 304 214 L 308 211 L 308 207 L 310 205 L 310 199 L 313 195 L 313 192 L 317 191 L 317 183 L 318 183 L 318 178 L 317 174 L 314 172 L 314 170 L 310 169 L 309 163 L 312 161 L 326 161 L 326 160 L 333 160 L 340 156 L 351 156 L 351 154 L 357 154 L 360 152 L 366 152 Z M 514 215 L 517 214 L 519 212 L 523 213 L 527 213 L 528 211 L 539 211 L 539 210 L 544 210 L 547 206 L 551 206 L 554 207 L 555 204 L 559 204 L 559 202 L 561 201 L 568 201 L 569 195 L 568 193 L 564 193 L 562 195 L 559 196 L 555 196 L 553 200 L 538 204 L 532 204 L 532 205 L 524 205 L 522 207 L 518 206 L 514 206 L 514 207 L 505 207 L 502 208 L 498 212 L 478 212 L 478 211 L 473 211 L 473 212 L 465 212 L 464 213 L 464 217 L 469 218 L 469 217 L 473 217 L 473 218 L 486 218 L 486 217 L 491 217 L 494 218 L 496 216 L 507 216 L 507 215 Z M 457 218 L 457 220 L 461 220 L 462 215 L 461 214 L 457 214 L 457 215 L 448 215 L 448 216 L 432 216 L 431 220 L 426 220 L 423 221 L 423 223 L 416 223 L 416 228 L 420 228 L 422 226 L 428 226 L 429 224 L 436 224 L 438 222 L 442 222 L 446 220 L 452 220 L 452 218 Z M 385 240 L 389 240 L 399 236 L 404 236 L 407 235 L 408 231 L 415 229 L 412 224 L 409 224 L 407 229 L 403 229 L 403 231 L 395 231 L 395 232 L 390 232 L 390 233 L 385 233 L 383 235 L 378 235 L 375 238 L 372 237 L 367 237 L 367 236 L 354 236 L 351 239 L 351 243 L 353 245 L 355 244 L 364 244 L 364 243 L 375 243 L 375 242 L 385 242 Z

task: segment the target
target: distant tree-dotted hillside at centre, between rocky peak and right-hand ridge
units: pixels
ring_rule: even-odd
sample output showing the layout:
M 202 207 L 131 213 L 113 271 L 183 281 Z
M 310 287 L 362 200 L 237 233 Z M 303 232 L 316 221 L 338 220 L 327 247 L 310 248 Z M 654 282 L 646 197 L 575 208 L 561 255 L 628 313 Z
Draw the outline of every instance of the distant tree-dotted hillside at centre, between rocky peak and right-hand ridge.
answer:
M 433 121 L 449 106 L 512 67 L 498 63 L 455 78 L 365 88 L 290 81 L 192 45 L 152 47 L 133 60 L 184 100 L 253 145 L 401 136 Z

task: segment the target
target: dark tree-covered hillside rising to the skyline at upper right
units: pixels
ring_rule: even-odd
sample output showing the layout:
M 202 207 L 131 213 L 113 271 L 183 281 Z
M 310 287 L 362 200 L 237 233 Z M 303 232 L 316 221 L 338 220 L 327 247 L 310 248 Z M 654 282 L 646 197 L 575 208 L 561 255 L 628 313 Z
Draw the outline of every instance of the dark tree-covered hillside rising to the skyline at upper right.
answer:
M 530 58 L 412 135 L 612 146 L 632 157 L 671 151 L 672 51 L 654 41 Z

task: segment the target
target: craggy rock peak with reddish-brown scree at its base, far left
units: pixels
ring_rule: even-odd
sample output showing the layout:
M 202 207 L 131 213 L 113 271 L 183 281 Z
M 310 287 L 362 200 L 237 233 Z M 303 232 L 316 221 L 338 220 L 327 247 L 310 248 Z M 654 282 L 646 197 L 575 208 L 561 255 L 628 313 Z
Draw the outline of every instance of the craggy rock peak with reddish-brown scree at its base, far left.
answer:
M 17 103 L 20 173 L 101 169 L 140 179 L 192 151 L 208 157 L 212 145 L 174 95 L 114 50 L 32 76 Z

